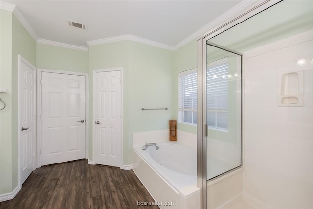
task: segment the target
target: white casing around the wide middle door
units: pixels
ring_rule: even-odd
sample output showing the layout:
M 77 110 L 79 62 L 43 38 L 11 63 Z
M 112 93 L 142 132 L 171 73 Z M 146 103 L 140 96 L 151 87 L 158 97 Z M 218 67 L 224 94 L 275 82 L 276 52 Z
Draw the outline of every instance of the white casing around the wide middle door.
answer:
M 37 115 L 37 138 L 36 138 L 36 168 L 41 167 L 41 73 L 48 72 L 48 73 L 57 73 L 57 74 L 67 74 L 67 75 L 79 75 L 85 76 L 85 159 L 88 159 L 88 134 L 89 134 L 89 74 L 83 72 L 72 72 L 72 71 L 64 71 L 64 70 L 52 70 L 52 69 L 37 69 L 37 108 L 36 108 L 36 115 Z

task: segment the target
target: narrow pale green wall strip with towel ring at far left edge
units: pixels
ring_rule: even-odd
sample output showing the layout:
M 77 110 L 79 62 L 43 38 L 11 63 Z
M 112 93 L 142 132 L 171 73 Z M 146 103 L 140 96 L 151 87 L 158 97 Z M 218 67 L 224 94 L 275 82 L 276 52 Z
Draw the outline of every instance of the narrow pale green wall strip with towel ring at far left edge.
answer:
M 8 93 L 0 93 L 6 108 L 0 111 L 0 194 L 12 189 L 12 13 L 1 10 L 0 30 L 0 88 Z M 3 105 L 1 104 L 1 107 Z

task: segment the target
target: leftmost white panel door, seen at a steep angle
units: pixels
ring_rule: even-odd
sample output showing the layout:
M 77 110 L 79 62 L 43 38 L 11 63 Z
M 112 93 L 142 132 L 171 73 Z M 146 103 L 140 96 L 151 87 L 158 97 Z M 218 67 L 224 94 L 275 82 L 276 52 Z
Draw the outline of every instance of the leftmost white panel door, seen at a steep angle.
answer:
M 19 105 L 20 105 L 20 166 L 21 186 L 35 169 L 35 67 L 20 56 L 19 65 Z

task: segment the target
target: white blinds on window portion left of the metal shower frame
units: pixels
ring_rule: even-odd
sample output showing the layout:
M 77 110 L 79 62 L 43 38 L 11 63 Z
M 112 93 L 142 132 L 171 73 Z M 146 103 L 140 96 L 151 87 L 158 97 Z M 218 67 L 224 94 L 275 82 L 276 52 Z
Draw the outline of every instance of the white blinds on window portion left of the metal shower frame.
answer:
M 179 110 L 197 110 L 197 70 L 179 73 Z

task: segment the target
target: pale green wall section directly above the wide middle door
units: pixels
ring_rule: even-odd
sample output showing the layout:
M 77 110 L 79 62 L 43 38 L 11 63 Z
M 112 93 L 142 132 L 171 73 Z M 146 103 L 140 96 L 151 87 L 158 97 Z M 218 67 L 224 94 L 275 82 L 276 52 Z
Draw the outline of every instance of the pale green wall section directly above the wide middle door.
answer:
M 36 44 L 36 67 L 88 73 L 88 51 Z

